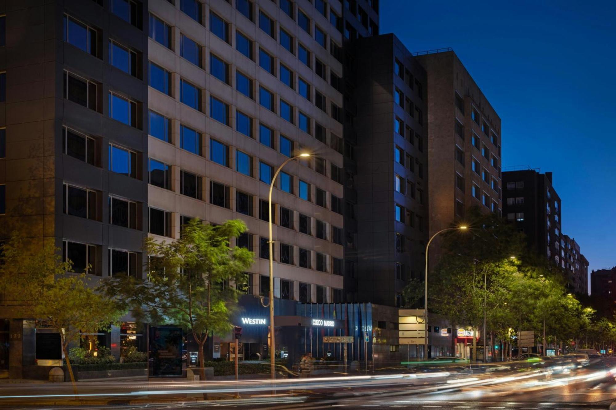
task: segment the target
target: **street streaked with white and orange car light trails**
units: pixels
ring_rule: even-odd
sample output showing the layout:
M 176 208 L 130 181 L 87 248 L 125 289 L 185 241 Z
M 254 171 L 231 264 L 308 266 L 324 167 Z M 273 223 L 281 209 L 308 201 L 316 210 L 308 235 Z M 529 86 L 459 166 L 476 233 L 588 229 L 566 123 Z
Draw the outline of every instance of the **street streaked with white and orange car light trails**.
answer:
M 616 401 L 616 359 L 559 370 L 513 365 L 494 372 L 433 369 L 365 376 L 225 382 L 93 382 L 0 385 L 6 409 L 608 409 Z M 239 394 L 237 393 L 239 392 Z M 208 394 L 204 400 L 203 393 Z

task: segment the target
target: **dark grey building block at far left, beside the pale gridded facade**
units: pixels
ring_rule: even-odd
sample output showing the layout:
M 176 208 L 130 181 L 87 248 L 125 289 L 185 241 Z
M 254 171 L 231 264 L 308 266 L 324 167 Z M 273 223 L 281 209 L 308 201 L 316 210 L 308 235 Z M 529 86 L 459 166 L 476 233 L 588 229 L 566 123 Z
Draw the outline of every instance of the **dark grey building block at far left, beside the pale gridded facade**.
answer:
M 142 277 L 148 226 L 143 6 L 84 0 L 0 6 L 1 235 L 25 236 L 34 249 L 53 241 L 73 270 L 89 264 L 92 276 Z M 24 321 L 18 308 L 0 312 L 2 337 L 19 335 L 7 340 L 0 372 L 20 378 L 23 366 L 35 364 L 44 329 Z M 119 350 L 120 328 L 113 337 Z

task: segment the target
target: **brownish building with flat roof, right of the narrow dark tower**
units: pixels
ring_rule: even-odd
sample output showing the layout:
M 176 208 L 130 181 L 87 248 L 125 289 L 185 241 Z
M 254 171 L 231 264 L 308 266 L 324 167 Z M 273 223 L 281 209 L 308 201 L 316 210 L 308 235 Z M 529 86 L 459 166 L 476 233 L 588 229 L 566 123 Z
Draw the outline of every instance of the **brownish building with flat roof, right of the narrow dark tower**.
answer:
M 428 73 L 429 234 L 471 206 L 501 215 L 500 117 L 453 50 L 415 55 Z

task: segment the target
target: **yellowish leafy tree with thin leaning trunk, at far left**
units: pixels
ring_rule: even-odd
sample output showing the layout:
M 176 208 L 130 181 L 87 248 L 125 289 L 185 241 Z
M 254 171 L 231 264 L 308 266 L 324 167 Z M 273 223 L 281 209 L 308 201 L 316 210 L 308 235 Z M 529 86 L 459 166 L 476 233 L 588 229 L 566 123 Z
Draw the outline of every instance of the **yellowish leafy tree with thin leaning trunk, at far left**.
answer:
M 7 295 L 17 300 L 5 300 L 26 318 L 34 318 L 37 326 L 55 329 L 60 334 L 62 352 L 68 373 L 77 394 L 75 375 L 68 355 L 71 342 L 82 334 L 108 330 L 120 319 L 123 311 L 104 293 L 100 281 L 91 275 L 70 273 L 73 263 L 62 261 L 60 249 L 51 242 L 38 247 L 25 246 L 22 238 L 14 237 L 2 246 L 4 264 L 0 280 Z

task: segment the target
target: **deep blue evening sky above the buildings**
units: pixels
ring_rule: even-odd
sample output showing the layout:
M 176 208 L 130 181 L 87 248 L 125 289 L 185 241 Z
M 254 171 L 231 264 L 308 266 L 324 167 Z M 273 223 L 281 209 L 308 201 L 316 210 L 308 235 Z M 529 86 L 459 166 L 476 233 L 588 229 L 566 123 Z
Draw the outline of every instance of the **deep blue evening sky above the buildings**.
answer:
M 381 33 L 455 50 L 500 115 L 503 168 L 554 172 L 562 232 L 590 269 L 616 265 L 614 15 L 614 2 L 381 0 Z

